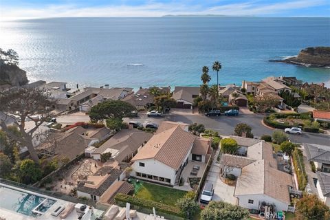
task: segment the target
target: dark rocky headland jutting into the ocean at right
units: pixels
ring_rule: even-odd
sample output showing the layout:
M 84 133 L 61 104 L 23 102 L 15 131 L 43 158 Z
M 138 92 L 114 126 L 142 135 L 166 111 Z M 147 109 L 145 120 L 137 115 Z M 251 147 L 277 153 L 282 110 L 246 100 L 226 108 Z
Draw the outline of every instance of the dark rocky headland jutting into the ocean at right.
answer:
M 306 67 L 330 67 L 330 47 L 307 47 L 298 56 L 270 62 L 291 63 Z

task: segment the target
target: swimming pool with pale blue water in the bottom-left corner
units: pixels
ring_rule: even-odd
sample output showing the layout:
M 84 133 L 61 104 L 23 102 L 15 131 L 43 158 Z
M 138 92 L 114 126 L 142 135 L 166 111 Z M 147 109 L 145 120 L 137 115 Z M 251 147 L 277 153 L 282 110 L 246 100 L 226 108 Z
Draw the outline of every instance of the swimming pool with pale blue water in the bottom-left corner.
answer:
M 30 217 L 45 213 L 55 202 L 39 195 L 8 188 L 0 185 L 0 207 Z

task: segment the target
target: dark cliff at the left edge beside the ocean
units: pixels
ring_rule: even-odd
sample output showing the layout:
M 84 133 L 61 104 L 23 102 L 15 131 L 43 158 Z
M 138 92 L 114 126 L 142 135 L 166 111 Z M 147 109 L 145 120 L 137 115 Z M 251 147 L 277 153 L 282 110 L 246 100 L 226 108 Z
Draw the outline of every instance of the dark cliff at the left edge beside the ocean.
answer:
M 28 82 L 26 72 L 17 65 L 0 65 L 0 87 L 17 87 Z

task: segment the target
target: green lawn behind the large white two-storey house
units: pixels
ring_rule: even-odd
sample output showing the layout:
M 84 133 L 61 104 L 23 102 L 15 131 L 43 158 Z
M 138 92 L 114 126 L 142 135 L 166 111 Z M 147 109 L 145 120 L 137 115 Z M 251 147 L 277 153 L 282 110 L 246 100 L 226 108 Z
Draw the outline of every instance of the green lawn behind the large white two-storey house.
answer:
M 141 199 L 153 200 L 169 206 L 175 206 L 177 199 L 181 199 L 186 195 L 186 192 L 182 190 L 148 184 L 144 181 L 140 181 L 140 183 L 142 186 L 140 186 L 137 192 L 135 192 L 135 197 Z

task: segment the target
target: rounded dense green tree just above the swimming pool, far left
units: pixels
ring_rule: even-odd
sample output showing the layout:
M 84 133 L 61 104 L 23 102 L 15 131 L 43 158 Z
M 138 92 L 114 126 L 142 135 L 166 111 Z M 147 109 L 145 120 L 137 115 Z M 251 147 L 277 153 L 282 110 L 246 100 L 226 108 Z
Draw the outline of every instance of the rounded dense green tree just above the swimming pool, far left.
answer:
M 23 184 L 34 184 L 43 177 L 43 171 L 32 159 L 23 159 L 19 166 L 19 179 Z

